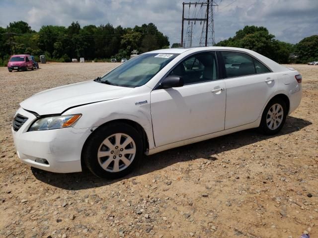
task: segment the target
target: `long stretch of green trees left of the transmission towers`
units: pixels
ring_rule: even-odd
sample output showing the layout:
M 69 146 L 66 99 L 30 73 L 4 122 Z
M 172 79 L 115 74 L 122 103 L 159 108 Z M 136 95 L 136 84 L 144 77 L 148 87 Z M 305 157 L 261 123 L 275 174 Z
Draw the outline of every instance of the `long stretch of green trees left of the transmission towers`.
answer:
M 80 27 L 78 22 L 65 26 L 42 26 L 36 32 L 27 22 L 9 23 L 0 27 L 0 63 L 10 55 L 45 55 L 48 60 L 70 62 L 84 57 L 86 60 L 128 58 L 133 50 L 140 53 L 169 48 L 168 37 L 153 23 L 134 28 L 106 25 Z

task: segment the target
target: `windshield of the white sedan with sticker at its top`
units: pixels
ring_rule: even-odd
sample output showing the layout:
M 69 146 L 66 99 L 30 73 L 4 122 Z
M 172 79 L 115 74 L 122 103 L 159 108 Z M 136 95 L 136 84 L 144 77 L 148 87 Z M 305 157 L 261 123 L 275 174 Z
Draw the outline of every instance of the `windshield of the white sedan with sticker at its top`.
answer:
M 139 87 L 177 56 L 178 54 L 143 54 L 128 60 L 95 81 L 123 87 Z

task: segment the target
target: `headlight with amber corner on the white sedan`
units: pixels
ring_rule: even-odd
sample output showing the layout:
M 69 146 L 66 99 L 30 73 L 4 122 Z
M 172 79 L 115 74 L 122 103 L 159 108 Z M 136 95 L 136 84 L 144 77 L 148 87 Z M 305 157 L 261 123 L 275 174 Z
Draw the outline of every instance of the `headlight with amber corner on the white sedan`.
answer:
M 29 131 L 52 130 L 68 127 L 73 125 L 80 116 L 81 114 L 40 118 L 31 125 Z

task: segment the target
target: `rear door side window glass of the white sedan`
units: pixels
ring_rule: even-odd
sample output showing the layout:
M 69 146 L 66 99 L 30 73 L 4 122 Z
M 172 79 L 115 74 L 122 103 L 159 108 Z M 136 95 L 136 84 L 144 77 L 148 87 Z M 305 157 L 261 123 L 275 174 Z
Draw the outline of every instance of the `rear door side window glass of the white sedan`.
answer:
M 224 51 L 222 56 L 228 78 L 270 72 L 264 64 L 247 54 Z

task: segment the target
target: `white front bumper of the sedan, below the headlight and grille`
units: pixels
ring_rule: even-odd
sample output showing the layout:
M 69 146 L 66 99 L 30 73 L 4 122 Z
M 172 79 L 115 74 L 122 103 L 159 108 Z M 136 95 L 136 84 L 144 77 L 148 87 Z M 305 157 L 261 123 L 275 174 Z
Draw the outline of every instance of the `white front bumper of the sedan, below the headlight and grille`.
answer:
M 91 133 L 88 128 L 67 127 L 28 132 L 36 117 L 21 108 L 17 113 L 28 118 L 18 131 L 12 128 L 17 155 L 23 163 L 55 173 L 81 171 L 81 150 Z M 40 163 L 42 159 L 47 163 Z

